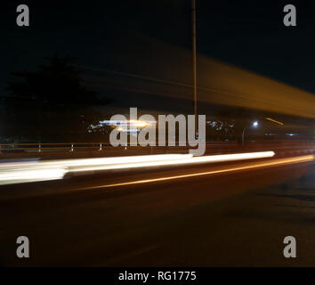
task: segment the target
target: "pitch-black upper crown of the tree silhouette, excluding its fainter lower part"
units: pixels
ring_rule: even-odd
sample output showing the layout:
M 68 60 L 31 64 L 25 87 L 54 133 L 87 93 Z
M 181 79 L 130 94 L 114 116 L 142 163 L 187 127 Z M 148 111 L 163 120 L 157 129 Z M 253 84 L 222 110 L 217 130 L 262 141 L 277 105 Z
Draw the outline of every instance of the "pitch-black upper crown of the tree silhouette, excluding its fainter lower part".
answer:
M 19 100 L 61 106 L 94 105 L 101 103 L 97 94 L 82 85 L 79 70 L 69 58 L 53 57 L 49 65 L 40 65 L 38 71 L 23 70 L 12 75 L 20 81 L 9 82 L 10 94 Z

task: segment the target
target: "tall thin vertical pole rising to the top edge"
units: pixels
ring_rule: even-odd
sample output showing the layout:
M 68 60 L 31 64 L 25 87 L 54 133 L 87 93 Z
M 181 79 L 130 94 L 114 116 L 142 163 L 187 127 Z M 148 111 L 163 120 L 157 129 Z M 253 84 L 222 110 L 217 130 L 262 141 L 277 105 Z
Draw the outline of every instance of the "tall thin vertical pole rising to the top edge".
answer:
M 195 115 L 195 137 L 198 137 L 197 116 L 197 70 L 196 70 L 196 0 L 191 0 L 192 12 L 192 74 L 193 74 L 193 104 Z

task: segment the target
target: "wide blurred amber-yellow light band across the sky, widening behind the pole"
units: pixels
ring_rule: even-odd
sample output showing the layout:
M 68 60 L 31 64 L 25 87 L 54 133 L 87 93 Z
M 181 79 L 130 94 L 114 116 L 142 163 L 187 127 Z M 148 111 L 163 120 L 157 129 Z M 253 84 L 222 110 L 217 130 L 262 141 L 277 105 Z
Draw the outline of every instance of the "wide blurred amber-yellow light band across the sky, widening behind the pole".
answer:
M 187 64 L 191 58 L 190 50 L 164 43 L 148 35 L 134 33 L 133 43 L 141 42 L 154 47 L 154 50 L 132 58 L 130 53 L 121 53 L 119 62 L 128 62 L 129 66 L 141 64 L 148 72 L 145 72 L 146 76 L 131 74 L 130 77 L 134 79 L 128 80 L 124 86 L 166 98 L 191 100 L 191 67 Z M 129 48 L 136 50 L 133 44 Z M 158 56 L 152 56 L 153 51 Z M 315 95 L 311 92 L 203 54 L 197 55 L 197 61 L 200 103 L 208 102 L 315 118 Z M 150 68 L 152 66 L 156 68 Z M 277 69 L 276 65 L 274 69 Z M 121 77 L 112 79 L 110 83 L 121 85 Z

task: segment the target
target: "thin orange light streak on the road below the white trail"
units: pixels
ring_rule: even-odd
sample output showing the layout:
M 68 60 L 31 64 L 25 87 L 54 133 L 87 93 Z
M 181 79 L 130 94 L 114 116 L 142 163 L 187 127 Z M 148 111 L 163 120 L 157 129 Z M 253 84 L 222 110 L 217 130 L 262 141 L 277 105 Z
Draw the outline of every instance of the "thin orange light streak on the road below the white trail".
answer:
M 109 188 L 109 187 L 141 184 L 141 183 L 154 183 L 154 182 L 181 179 L 181 178 L 187 178 L 187 177 L 193 177 L 193 176 L 214 175 L 214 174 L 219 174 L 219 173 L 224 173 L 224 172 L 248 170 L 248 169 L 253 169 L 253 168 L 258 168 L 258 167 L 276 167 L 276 166 L 280 166 L 280 165 L 302 163 L 302 162 L 308 162 L 308 161 L 312 161 L 312 160 L 314 160 L 313 155 L 306 155 L 306 156 L 297 157 L 297 158 L 290 158 L 290 159 L 277 159 L 277 160 L 273 160 L 270 162 L 257 162 L 257 163 L 254 163 L 252 165 L 247 165 L 247 166 L 243 166 L 243 167 L 227 167 L 227 168 L 224 168 L 221 170 L 199 172 L 199 173 L 193 173 L 193 174 L 189 174 L 189 175 L 175 175 L 175 176 L 160 177 L 160 178 L 154 178 L 154 179 L 137 180 L 137 181 L 131 181 L 131 182 L 125 182 L 125 183 L 113 183 L 113 184 L 108 184 L 108 185 L 86 187 L 86 188 L 82 188 L 82 190 Z

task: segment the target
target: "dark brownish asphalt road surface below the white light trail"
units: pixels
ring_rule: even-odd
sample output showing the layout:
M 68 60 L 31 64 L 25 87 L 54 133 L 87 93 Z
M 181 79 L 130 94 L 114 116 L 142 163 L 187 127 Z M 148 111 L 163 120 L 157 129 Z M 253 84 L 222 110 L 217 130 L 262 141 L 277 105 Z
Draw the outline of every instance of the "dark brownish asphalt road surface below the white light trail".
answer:
M 254 163 L 1 186 L 0 263 L 314 266 L 313 161 L 239 168 Z M 238 169 L 218 171 L 227 167 Z M 16 256 L 19 236 L 29 239 L 29 258 Z M 296 258 L 283 256 L 286 236 L 296 239 Z

